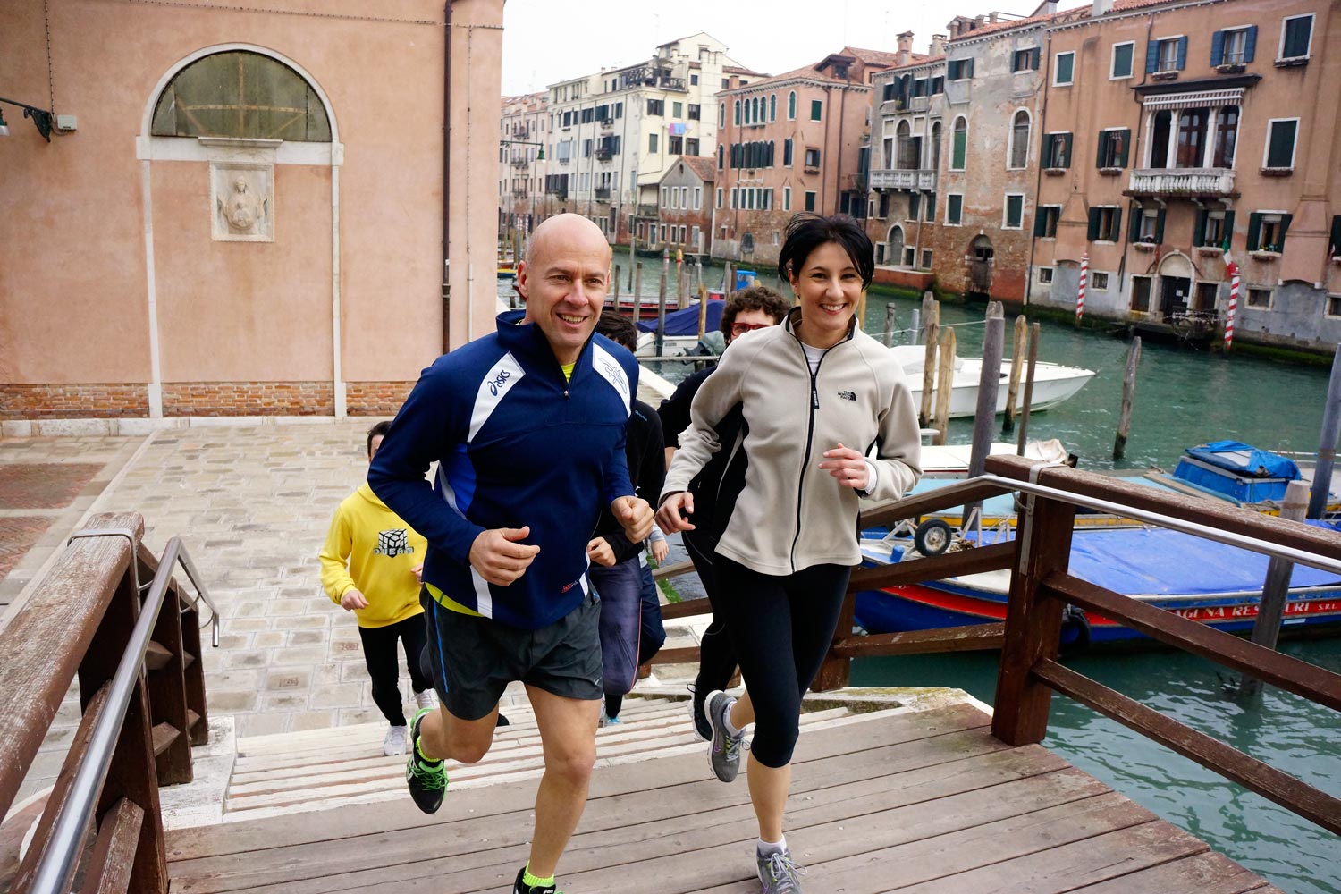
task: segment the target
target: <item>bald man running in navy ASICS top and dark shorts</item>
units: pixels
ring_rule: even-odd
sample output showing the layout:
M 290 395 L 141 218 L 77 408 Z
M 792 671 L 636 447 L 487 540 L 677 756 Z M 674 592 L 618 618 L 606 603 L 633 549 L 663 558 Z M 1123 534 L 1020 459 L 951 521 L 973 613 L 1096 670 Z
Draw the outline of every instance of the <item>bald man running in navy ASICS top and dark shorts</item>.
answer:
M 652 531 L 624 454 L 638 366 L 594 335 L 609 265 L 585 217 L 536 227 L 518 265 L 526 311 L 424 370 L 367 474 L 429 544 L 420 600 L 441 705 L 410 722 L 405 779 L 420 810 L 441 806 L 447 759 L 488 752 L 510 682 L 526 684 L 535 710 L 544 775 L 514 894 L 555 894 L 586 807 L 602 692 L 587 540 L 602 507 L 632 541 Z

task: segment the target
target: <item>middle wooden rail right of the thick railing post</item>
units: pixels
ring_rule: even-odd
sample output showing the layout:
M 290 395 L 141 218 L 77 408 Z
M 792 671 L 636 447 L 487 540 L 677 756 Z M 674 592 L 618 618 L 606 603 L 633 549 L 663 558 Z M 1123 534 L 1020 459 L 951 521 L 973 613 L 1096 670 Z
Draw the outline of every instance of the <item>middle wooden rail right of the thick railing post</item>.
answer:
M 1341 710 L 1341 674 L 1189 621 L 1172 611 L 1124 596 L 1080 578 L 1057 574 L 1043 580 L 1059 599 L 1112 618 L 1171 646 L 1251 674 L 1273 686 Z

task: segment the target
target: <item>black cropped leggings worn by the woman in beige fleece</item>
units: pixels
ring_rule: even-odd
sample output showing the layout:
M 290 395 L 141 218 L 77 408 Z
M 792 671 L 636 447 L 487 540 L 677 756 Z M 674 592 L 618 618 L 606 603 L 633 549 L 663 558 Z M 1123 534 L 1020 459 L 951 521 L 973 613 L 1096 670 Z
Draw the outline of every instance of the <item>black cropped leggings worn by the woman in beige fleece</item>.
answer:
M 801 697 L 833 642 L 849 566 L 811 566 L 790 575 L 759 574 L 715 556 L 724 615 L 736 649 L 755 735 L 750 753 L 764 767 L 786 767 L 797 745 Z

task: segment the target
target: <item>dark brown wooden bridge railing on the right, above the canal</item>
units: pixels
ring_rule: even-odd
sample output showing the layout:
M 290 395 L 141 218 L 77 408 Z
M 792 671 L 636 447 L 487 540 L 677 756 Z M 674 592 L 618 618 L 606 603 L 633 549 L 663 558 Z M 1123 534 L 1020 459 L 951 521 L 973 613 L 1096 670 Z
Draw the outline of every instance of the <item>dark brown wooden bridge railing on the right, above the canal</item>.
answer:
M 1077 507 L 1136 519 L 1144 524 L 1183 531 L 1338 574 L 1341 536 L 1230 504 L 1136 487 L 1120 478 L 1063 465 L 1041 465 L 1015 456 L 988 457 L 986 476 L 868 512 L 861 524 L 870 527 L 917 519 L 1015 491 L 1023 496 L 1015 539 L 853 572 L 833 646 L 811 689 L 823 692 L 846 686 L 852 658 L 1000 649 L 992 735 L 1002 741 L 1010 745 L 1042 741 L 1047 733 L 1051 693 L 1055 690 L 1286 810 L 1341 834 L 1341 799 L 1160 714 L 1058 661 L 1062 613 L 1069 603 L 1165 645 L 1341 710 L 1341 676 L 1105 590 L 1069 572 Z M 1011 570 L 1004 625 L 872 637 L 852 633 L 854 594 L 860 590 L 1004 568 Z M 680 572 L 680 568 L 673 571 Z M 711 611 L 707 599 L 696 599 L 666 606 L 665 617 L 679 618 L 705 611 Z M 692 661 L 696 655 L 697 649 L 668 649 L 654 661 Z

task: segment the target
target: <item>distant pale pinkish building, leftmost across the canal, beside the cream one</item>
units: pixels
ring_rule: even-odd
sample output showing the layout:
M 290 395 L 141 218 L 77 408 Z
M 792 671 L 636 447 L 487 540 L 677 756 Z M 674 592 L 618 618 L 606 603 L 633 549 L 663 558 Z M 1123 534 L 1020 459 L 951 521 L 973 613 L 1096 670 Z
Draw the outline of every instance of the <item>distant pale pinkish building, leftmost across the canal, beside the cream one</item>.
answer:
M 499 232 L 530 232 L 546 214 L 542 149 L 550 134 L 548 91 L 504 97 L 499 122 Z

